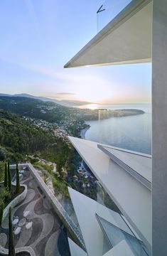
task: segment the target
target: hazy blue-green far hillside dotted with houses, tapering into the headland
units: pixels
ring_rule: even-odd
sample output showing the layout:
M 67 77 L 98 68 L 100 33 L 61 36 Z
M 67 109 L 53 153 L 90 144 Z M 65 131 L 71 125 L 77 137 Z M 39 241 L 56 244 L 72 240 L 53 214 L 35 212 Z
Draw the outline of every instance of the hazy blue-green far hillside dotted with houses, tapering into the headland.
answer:
M 83 123 L 86 120 L 98 119 L 99 110 L 64 107 L 54 102 L 43 102 L 30 97 L 0 96 L 0 109 L 4 109 L 24 117 L 43 119 L 47 122 L 65 124 L 70 127 L 72 122 Z M 134 114 L 144 114 L 142 110 L 107 110 L 102 111 L 102 118 L 124 117 Z

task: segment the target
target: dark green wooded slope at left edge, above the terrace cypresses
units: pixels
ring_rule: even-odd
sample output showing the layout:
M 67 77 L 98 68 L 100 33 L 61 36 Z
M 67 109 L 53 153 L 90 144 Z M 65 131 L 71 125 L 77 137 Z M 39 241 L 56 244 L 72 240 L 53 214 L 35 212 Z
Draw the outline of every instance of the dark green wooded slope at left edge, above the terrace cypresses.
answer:
M 0 110 L 1 151 L 12 161 L 23 159 L 23 155 L 45 149 L 55 142 L 51 134 L 46 134 L 23 117 Z

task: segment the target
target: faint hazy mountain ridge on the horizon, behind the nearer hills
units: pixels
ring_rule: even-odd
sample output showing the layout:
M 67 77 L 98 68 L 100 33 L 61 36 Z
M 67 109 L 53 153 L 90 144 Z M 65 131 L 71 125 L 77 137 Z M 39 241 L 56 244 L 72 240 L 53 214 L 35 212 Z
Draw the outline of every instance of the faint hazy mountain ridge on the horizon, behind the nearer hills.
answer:
M 54 102 L 56 104 L 59 104 L 59 105 L 65 106 L 65 107 L 76 107 L 76 106 L 87 105 L 87 104 L 92 103 L 92 102 L 85 102 L 85 101 L 79 101 L 79 100 L 55 100 L 55 99 L 50 99 L 48 97 L 38 97 L 38 96 L 28 95 L 27 93 L 20 93 L 20 94 L 15 94 L 15 95 L 0 93 L 0 96 L 28 97 L 28 98 L 35 99 L 35 100 L 42 100 L 44 102 Z

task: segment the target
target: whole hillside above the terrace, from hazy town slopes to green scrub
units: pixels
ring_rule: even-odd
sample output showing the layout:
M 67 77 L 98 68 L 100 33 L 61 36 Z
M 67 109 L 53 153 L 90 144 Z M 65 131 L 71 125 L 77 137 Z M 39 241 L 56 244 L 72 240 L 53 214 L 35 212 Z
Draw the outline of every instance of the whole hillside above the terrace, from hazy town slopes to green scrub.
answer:
M 25 161 L 27 155 L 55 162 L 60 172 L 70 162 L 72 146 L 67 135 L 79 137 L 86 120 L 98 119 L 98 110 L 63 107 L 28 97 L 0 96 L 0 159 Z M 11 114 L 11 111 L 16 114 Z M 101 118 L 143 114 L 141 110 L 117 110 L 100 114 Z M 63 131 L 63 132 L 61 132 Z M 74 166 L 69 166 L 74 172 Z

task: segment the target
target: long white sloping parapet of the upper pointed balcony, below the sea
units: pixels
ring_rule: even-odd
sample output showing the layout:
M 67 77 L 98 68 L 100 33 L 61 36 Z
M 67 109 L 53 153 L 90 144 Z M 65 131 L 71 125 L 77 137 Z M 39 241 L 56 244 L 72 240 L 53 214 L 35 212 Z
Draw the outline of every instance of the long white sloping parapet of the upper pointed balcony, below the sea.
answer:
M 69 139 L 139 238 L 151 250 L 151 190 L 98 149 L 96 142 L 75 137 Z

